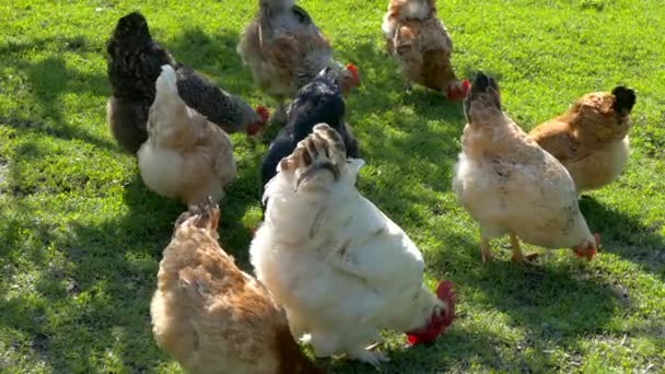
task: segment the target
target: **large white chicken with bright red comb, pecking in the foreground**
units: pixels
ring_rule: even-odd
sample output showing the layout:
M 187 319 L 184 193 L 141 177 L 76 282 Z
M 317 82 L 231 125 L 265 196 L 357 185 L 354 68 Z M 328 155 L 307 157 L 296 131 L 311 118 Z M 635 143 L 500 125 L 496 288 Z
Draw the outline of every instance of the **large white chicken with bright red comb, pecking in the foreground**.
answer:
M 347 161 L 337 131 L 319 124 L 267 185 L 266 219 L 249 248 L 258 279 L 317 357 L 346 353 L 375 366 L 378 329 L 436 339 L 455 315 L 452 283 L 436 295 L 407 234 L 355 189 L 362 160 Z

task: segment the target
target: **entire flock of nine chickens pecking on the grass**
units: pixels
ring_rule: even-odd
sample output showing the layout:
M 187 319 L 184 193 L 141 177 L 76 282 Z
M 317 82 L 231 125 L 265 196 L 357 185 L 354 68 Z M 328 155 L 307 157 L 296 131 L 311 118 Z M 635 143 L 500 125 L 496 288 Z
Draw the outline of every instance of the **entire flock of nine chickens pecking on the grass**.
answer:
M 435 0 L 390 0 L 386 49 L 411 82 L 464 100 L 467 125 L 453 189 L 489 239 L 520 238 L 572 248 L 591 260 L 590 231 L 578 194 L 615 180 L 629 155 L 632 90 L 591 93 L 563 115 L 524 132 L 501 108 L 493 78 L 472 84 L 451 66 L 452 42 Z M 236 177 L 228 136 L 254 136 L 269 121 L 177 62 L 155 44 L 140 13 L 122 16 L 107 42 L 113 95 L 107 119 L 120 148 L 138 159 L 156 194 L 188 204 L 163 254 L 151 304 L 158 344 L 195 373 L 318 373 L 316 357 L 345 354 L 378 367 L 380 330 L 434 341 L 455 317 L 448 281 L 423 283 L 424 262 L 408 235 L 355 188 L 363 161 L 345 122 L 345 96 L 358 69 L 332 49 L 293 0 L 260 0 L 237 51 L 256 84 L 278 103 L 282 128 L 261 166 L 264 222 L 249 253 L 255 279 L 218 244 L 224 188 Z M 290 103 L 289 103 L 290 101 Z

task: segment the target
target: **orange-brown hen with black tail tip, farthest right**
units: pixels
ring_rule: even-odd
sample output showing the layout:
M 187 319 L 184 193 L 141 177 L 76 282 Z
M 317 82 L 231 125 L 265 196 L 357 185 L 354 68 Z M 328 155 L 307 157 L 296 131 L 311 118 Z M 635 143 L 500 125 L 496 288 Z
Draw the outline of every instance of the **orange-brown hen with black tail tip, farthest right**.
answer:
M 575 182 L 578 194 L 616 180 L 628 163 L 628 130 L 635 93 L 625 86 L 584 95 L 563 115 L 529 132 L 557 157 Z

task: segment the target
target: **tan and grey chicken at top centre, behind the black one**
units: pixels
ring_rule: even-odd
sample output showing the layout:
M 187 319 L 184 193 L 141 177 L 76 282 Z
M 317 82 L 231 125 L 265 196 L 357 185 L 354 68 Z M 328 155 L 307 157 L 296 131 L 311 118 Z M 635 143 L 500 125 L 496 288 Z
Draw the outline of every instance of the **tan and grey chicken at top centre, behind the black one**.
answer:
M 273 119 L 287 120 L 284 101 L 326 67 L 334 68 L 342 93 L 360 84 L 358 70 L 332 59 L 332 48 L 307 12 L 293 0 L 259 0 L 255 19 L 245 27 L 237 52 L 256 84 L 279 103 Z

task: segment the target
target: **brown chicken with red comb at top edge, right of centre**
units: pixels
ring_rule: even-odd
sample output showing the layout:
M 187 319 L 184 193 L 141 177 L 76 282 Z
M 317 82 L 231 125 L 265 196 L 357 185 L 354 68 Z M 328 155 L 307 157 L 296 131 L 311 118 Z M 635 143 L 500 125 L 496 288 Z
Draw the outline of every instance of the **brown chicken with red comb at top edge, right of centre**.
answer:
M 435 0 L 389 0 L 382 30 L 407 87 L 415 82 L 444 93 L 450 101 L 467 95 L 469 82 L 455 75 L 453 40 L 436 17 Z

